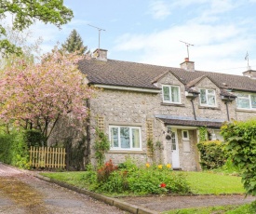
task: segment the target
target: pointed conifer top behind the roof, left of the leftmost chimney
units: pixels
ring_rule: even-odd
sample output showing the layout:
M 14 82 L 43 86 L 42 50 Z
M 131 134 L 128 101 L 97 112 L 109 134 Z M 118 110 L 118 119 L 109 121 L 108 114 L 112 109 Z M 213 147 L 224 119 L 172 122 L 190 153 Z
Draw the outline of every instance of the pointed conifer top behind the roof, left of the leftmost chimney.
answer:
M 78 51 L 79 54 L 84 54 L 88 47 L 85 47 L 83 44 L 83 40 L 79 33 L 73 30 L 66 42 L 62 44 L 62 48 L 69 53 L 73 53 L 74 51 Z

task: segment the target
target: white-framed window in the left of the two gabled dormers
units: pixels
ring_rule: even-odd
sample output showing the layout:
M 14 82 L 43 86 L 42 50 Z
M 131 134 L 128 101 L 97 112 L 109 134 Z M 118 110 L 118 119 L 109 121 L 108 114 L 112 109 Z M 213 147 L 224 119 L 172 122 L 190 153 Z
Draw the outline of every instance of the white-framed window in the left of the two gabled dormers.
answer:
M 181 103 L 181 92 L 178 86 L 162 86 L 163 101 L 168 103 Z

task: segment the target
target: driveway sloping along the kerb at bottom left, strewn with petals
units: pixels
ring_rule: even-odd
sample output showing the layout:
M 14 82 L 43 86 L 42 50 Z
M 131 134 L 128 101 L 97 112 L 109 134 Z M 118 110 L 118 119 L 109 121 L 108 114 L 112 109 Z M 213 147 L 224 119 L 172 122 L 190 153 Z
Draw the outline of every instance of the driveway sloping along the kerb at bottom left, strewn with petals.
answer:
M 125 213 L 0 163 L 0 213 Z

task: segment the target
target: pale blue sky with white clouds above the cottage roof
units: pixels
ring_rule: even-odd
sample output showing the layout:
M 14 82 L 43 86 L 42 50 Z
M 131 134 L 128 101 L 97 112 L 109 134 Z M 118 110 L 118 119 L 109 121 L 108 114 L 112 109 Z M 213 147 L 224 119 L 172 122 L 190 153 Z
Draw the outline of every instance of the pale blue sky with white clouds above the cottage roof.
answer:
M 242 74 L 256 70 L 256 0 L 64 0 L 74 19 L 59 30 L 36 22 L 43 52 L 63 43 L 75 29 L 91 51 L 108 50 L 108 59 L 180 67 L 187 57 L 195 70 Z M 32 39 L 33 40 L 33 39 Z

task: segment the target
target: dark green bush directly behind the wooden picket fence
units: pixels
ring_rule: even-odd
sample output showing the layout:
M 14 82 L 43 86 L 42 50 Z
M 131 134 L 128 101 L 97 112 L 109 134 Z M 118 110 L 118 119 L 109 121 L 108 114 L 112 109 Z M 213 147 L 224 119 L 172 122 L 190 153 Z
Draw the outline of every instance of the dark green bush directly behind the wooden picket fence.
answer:
M 24 130 L 23 138 L 29 148 L 31 146 L 47 146 L 47 140 L 39 130 Z

